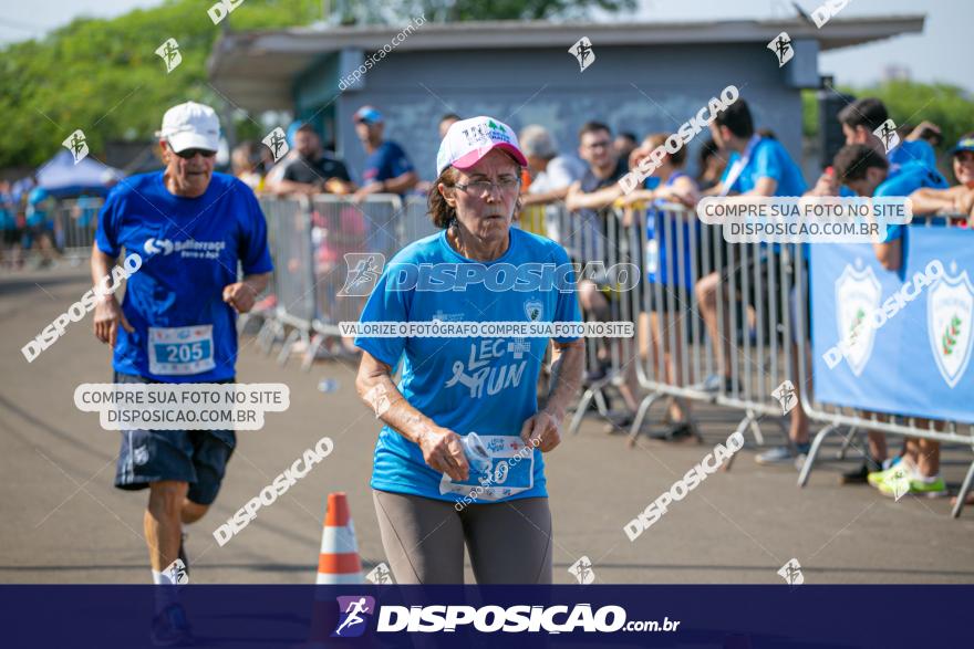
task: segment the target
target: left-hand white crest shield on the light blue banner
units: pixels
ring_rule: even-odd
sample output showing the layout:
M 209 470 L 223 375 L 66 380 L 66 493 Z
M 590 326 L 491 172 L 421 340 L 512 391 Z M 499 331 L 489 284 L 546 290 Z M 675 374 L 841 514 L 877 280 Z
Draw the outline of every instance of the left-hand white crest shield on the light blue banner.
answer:
M 856 260 L 857 266 L 861 264 L 861 260 Z M 872 355 L 875 328 L 871 327 L 866 318 L 879 308 L 881 292 L 882 289 L 872 268 L 853 269 L 847 264 L 842 274 L 836 280 L 836 322 L 839 325 L 839 343 L 849 343 L 845 356 L 856 376 L 862 374 Z

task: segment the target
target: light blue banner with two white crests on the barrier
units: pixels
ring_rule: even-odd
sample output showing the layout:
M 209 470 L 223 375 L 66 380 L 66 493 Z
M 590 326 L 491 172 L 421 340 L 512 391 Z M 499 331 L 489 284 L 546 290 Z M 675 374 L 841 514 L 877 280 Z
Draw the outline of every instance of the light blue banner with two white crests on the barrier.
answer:
M 811 247 L 815 395 L 974 421 L 974 231 L 910 228 L 900 270 L 871 244 Z

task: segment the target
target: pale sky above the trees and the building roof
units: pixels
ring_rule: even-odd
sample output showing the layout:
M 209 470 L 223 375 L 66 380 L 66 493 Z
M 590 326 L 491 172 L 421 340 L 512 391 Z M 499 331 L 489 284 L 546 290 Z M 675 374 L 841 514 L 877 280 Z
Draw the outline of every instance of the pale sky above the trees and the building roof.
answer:
M 43 35 L 79 15 L 110 18 L 159 0 L 2 0 L 0 43 Z M 825 0 L 798 0 L 811 13 Z M 200 6 L 207 2 L 200 0 Z M 870 45 L 825 53 L 819 71 L 833 74 L 837 83 L 868 85 L 878 81 L 888 65 L 905 66 L 914 81 L 945 82 L 974 93 L 974 61 L 962 44 L 971 38 L 964 30 L 974 24 L 972 0 L 850 0 L 839 17 L 903 15 L 925 13 L 924 32 L 898 36 Z M 768 20 L 794 17 L 790 0 L 641 0 L 638 20 Z M 608 20 L 612 20 L 609 18 Z M 822 29 L 828 29 L 826 25 Z M 964 54 L 963 52 L 967 52 Z

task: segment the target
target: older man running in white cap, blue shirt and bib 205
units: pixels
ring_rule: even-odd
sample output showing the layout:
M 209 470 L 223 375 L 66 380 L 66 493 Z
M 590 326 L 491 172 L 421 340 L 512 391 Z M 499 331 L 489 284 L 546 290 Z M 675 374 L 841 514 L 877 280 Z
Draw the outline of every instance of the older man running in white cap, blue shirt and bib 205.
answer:
M 253 191 L 214 172 L 219 128 L 209 106 L 169 108 L 159 132 L 166 168 L 122 180 L 99 216 L 95 285 L 123 248 L 142 258 L 124 303 L 107 294 L 95 307 L 95 336 L 114 349 L 115 383 L 234 381 L 236 315 L 250 311 L 272 266 Z M 232 430 L 122 431 L 115 486 L 149 490 L 143 525 L 156 585 L 175 585 L 165 568 L 185 563 L 182 527 L 216 500 L 235 446 Z M 175 588 L 158 589 L 156 609 L 156 642 L 191 638 Z

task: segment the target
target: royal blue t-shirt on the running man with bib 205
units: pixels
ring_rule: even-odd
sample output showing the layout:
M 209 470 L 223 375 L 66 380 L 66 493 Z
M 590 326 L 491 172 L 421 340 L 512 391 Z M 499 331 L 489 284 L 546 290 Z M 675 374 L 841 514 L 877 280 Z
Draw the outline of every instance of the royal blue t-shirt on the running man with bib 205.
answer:
M 108 195 L 95 234 L 99 250 L 142 257 L 128 278 L 122 311 L 135 329 L 118 328 L 116 371 L 164 383 L 232 378 L 236 312 L 224 287 L 244 274 L 273 270 L 267 223 L 253 191 L 214 174 L 206 192 L 185 198 L 163 171 L 122 180 Z

